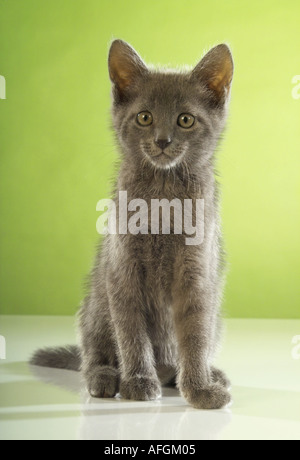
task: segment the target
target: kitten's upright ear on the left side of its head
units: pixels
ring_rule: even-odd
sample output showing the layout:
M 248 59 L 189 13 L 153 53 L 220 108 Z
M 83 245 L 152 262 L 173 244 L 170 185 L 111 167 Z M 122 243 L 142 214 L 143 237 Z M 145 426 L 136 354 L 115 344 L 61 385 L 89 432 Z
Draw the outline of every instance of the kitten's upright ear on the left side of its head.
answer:
M 109 76 L 115 85 L 120 99 L 124 99 L 127 90 L 137 78 L 145 75 L 148 69 L 137 52 L 123 40 L 115 40 L 108 57 Z

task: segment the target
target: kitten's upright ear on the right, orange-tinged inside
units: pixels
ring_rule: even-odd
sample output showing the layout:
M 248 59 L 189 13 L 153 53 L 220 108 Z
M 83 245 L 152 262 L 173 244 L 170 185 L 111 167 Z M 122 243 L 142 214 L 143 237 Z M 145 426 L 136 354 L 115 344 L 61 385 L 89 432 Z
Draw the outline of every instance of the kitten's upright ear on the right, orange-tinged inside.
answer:
M 233 78 L 234 64 L 227 45 L 212 48 L 192 71 L 192 78 L 203 84 L 216 103 L 224 103 Z

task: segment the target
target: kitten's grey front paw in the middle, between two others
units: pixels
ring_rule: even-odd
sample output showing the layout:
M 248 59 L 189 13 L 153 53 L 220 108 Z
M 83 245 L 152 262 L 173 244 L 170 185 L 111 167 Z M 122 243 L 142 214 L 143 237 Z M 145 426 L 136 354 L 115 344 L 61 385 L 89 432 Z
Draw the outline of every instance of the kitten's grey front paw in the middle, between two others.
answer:
M 151 401 L 160 398 L 161 386 L 156 378 L 131 377 L 121 381 L 120 393 L 124 399 Z

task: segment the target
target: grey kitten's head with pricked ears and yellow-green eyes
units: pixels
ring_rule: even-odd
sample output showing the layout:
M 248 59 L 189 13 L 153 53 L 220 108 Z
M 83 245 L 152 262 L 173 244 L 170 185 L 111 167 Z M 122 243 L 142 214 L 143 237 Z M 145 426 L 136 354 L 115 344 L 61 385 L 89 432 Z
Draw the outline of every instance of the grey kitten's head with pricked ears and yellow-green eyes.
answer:
M 227 45 L 211 49 L 191 71 L 151 70 L 115 40 L 109 53 L 113 121 L 126 155 L 158 169 L 203 164 L 224 128 L 233 78 Z

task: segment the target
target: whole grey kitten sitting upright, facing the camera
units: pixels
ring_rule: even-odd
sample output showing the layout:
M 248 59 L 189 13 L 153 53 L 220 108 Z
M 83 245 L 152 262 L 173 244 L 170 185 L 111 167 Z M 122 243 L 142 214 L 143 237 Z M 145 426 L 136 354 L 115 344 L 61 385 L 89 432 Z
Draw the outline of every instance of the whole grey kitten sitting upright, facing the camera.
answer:
M 177 383 L 199 409 L 231 401 L 212 366 L 224 258 L 214 152 L 224 129 L 233 60 L 219 45 L 192 71 L 149 69 L 127 43 L 109 53 L 112 118 L 122 163 L 114 200 L 205 200 L 204 242 L 185 235 L 107 235 L 80 312 L 81 348 L 36 352 L 32 364 L 81 370 L 94 397 L 153 400 Z M 174 222 L 172 221 L 172 224 Z M 172 227 L 173 228 L 173 227 Z M 174 230 L 174 229 L 173 229 Z

